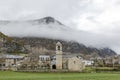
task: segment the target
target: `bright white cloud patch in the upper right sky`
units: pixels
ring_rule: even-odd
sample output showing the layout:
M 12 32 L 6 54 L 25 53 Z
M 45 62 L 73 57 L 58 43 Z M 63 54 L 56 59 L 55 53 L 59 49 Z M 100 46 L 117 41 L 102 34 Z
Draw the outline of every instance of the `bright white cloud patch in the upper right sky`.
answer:
M 120 21 L 119 0 L 89 0 L 84 11 L 76 19 L 79 29 L 106 34 Z M 112 31 L 114 32 L 114 31 Z M 110 32 L 111 34 L 111 32 Z

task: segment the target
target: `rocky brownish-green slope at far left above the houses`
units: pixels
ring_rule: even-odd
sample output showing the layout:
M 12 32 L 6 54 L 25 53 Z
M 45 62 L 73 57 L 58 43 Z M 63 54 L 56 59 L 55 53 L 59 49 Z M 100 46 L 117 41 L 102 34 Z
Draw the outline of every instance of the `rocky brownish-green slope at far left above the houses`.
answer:
M 14 38 L 8 37 L 0 32 L 0 52 L 9 54 L 26 53 L 26 49 L 23 45 L 15 41 Z

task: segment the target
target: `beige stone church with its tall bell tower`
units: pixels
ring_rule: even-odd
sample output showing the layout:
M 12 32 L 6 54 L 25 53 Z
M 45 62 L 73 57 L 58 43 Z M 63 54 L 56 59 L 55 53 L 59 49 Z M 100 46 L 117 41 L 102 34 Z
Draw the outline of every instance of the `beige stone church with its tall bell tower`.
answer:
M 69 71 L 82 71 L 85 68 L 84 63 L 79 56 L 62 54 L 62 44 L 56 44 L 56 69 L 67 69 Z

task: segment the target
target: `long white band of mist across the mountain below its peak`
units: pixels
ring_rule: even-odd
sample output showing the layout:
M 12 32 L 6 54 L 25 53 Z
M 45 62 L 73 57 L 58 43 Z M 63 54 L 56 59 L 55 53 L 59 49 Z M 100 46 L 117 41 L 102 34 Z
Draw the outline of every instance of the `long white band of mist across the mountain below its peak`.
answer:
M 118 44 L 116 37 L 95 34 L 87 31 L 77 30 L 59 24 L 32 24 L 30 22 L 11 22 L 0 25 L 0 31 L 11 37 L 38 37 L 49 39 L 60 39 L 65 41 L 76 41 L 86 46 L 97 48 L 112 48 L 117 51 L 114 44 Z

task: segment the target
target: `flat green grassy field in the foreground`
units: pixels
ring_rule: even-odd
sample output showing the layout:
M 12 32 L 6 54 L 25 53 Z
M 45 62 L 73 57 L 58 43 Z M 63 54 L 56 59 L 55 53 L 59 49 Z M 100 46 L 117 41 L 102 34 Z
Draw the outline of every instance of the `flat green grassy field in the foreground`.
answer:
M 118 73 L 25 73 L 0 71 L 0 80 L 120 80 Z

